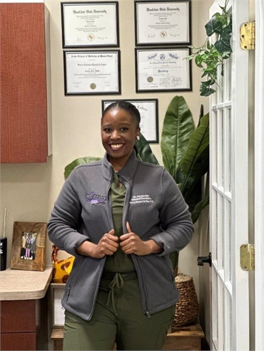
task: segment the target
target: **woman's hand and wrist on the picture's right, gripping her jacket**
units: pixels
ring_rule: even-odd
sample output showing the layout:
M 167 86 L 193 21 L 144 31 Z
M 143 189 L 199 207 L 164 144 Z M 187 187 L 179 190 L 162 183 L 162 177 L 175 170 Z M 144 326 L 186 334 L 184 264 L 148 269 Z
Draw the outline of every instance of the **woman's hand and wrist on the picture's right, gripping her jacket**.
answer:
M 142 241 L 139 236 L 133 233 L 128 222 L 126 222 L 126 229 L 128 230 L 128 233 L 123 234 L 120 237 L 120 246 L 124 253 L 136 253 L 138 256 L 144 256 L 163 251 L 163 248 L 152 239 Z

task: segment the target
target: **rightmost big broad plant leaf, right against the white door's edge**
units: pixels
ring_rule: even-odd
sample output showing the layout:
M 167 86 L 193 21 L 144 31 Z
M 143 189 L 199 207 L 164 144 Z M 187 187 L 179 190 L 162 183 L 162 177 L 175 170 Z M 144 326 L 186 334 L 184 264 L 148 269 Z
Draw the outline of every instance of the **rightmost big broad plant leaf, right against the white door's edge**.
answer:
M 197 182 L 209 168 L 209 114 L 200 118 L 200 125 L 190 135 L 186 154 L 178 165 L 176 181 L 188 203 Z

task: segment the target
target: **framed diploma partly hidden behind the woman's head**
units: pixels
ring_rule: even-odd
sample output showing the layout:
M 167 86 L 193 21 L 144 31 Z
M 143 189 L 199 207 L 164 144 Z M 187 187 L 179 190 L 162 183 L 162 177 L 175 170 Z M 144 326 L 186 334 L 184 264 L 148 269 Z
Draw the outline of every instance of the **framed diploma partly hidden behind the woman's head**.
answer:
M 141 134 L 148 142 L 158 143 L 158 99 L 128 100 L 141 114 Z M 102 112 L 116 100 L 102 100 Z

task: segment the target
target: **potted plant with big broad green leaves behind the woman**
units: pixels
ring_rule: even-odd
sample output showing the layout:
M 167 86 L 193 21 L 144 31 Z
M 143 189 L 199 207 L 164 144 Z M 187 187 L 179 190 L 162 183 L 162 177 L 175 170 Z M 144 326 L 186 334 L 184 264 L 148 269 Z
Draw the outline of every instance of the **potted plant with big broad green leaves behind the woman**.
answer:
M 158 164 L 147 140 L 141 134 L 136 141 L 138 159 Z M 182 96 L 175 96 L 168 105 L 163 120 L 161 153 L 164 167 L 181 189 L 189 206 L 193 223 L 198 220 L 200 211 L 209 204 L 209 197 L 202 199 L 202 178 L 209 170 L 209 114 L 203 115 L 200 108 L 198 126 Z M 65 167 L 67 178 L 78 164 L 93 162 L 101 157 L 82 157 Z M 178 271 L 178 251 L 171 253 L 173 268 Z

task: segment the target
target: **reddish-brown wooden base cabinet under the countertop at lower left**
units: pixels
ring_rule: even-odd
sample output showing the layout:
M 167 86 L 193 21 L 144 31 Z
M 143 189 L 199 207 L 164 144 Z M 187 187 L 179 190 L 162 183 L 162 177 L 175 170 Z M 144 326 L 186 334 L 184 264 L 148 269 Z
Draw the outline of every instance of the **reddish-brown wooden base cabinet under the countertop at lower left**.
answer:
M 46 298 L 1 301 L 1 350 L 48 350 Z

